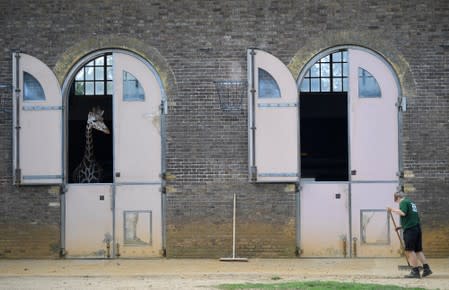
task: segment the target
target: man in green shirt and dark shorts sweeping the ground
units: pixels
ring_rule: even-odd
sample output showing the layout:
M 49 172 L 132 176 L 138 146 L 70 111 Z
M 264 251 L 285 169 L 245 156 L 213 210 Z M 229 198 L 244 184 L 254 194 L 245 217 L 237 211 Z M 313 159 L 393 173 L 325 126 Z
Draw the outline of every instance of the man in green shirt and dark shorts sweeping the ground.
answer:
M 418 208 L 413 201 L 405 197 L 403 192 L 394 194 L 394 202 L 399 203 L 399 208 L 388 207 L 387 210 L 400 216 L 401 227 L 404 230 L 405 254 L 408 262 L 413 267 L 410 274 L 406 275 L 405 278 L 421 278 L 418 260 L 423 265 L 422 276 L 429 276 L 432 274 L 432 271 L 422 250 L 422 233 Z

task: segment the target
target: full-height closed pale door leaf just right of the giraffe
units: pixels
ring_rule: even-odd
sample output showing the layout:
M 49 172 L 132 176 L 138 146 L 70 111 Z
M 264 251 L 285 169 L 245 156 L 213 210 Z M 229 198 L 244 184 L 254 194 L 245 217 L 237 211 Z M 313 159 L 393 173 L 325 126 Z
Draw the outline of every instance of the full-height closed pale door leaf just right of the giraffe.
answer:
M 124 53 L 113 58 L 116 255 L 160 256 L 161 90 L 145 63 Z

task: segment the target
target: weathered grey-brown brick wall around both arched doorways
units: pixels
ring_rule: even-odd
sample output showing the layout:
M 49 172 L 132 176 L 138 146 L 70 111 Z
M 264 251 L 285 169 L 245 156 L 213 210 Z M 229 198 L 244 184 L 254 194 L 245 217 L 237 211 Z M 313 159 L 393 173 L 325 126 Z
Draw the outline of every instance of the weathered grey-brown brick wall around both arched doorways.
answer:
M 246 79 L 248 47 L 290 63 L 295 77 L 319 51 L 369 47 L 391 62 L 408 97 L 401 146 L 413 177 L 406 188 L 422 211 L 426 252 L 447 256 L 448 16 L 443 0 L 1 1 L 0 84 L 11 83 L 12 49 L 53 68 L 80 43 L 93 50 L 131 39 L 151 47 L 173 75 L 166 88 L 167 254 L 229 255 L 237 192 L 239 253 L 294 256 L 295 195 L 287 185 L 248 184 L 246 104 L 223 113 L 213 81 Z M 0 88 L 0 257 L 52 256 L 59 196 L 51 187 L 11 185 L 10 95 Z

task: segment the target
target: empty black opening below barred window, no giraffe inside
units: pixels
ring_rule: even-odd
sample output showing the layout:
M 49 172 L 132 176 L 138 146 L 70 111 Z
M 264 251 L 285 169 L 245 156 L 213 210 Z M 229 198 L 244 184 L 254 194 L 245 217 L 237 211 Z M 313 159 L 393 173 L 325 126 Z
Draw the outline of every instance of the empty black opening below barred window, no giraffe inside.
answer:
M 301 93 L 301 177 L 348 180 L 347 93 Z

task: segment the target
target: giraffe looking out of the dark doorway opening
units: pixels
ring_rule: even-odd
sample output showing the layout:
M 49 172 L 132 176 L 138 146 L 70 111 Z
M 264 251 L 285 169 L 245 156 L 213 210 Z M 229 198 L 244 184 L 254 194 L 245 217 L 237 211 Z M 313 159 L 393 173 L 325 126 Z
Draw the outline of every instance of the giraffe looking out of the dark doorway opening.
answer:
M 109 134 L 109 129 L 103 121 L 103 113 L 99 107 L 92 108 L 87 117 L 86 148 L 81 163 L 73 171 L 75 183 L 98 183 L 103 177 L 103 168 L 95 160 L 92 129 Z

